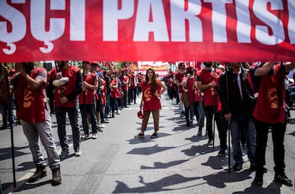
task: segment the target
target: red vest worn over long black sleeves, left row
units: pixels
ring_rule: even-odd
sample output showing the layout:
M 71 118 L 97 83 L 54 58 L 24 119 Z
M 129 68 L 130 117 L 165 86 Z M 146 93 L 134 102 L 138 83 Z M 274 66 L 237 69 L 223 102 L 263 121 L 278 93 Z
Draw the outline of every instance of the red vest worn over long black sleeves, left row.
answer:
M 68 82 L 66 85 L 63 85 L 62 87 L 56 87 L 56 92 L 54 92 L 54 102 L 56 107 L 73 107 L 75 99 L 69 100 L 66 104 L 61 104 L 59 102 L 59 99 L 61 98 L 61 93 L 63 97 L 66 97 L 67 95 L 70 95 L 71 92 L 75 90 L 76 87 L 76 81 L 77 81 L 77 72 L 80 69 L 75 67 L 74 65 L 71 65 L 70 68 L 66 70 L 62 70 L 58 68 L 58 72 L 62 72 L 63 77 L 68 77 Z M 55 80 L 57 71 L 56 68 L 51 70 L 51 79 Z

